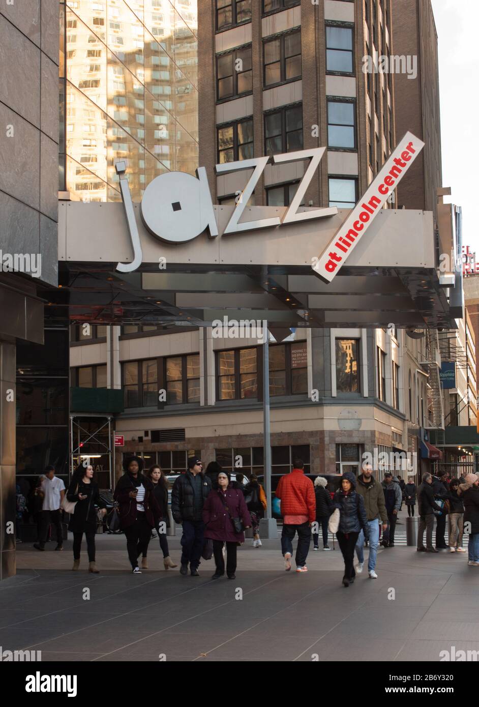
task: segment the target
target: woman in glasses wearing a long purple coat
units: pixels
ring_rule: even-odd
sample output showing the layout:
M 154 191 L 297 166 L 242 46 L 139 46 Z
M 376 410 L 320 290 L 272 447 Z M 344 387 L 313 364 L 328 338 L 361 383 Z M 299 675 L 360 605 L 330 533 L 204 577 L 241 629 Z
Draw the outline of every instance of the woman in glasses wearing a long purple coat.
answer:
M 230 474 L 218 474 L 218 488 L 210 492 L 203 506 L 203 522 L 206 525 L 204 537 L 213 540 L 216 571 L 213 579 L 225 574 L 223 544 L 226 543 L 226 573 L 228 579 L 235 579 L 236 549 L 244 542 L 244 533 L 236 532 L 233 520 L 242 520 L 243 527 L 251 527 L 251 518 L 242 491 L 233 489 Z

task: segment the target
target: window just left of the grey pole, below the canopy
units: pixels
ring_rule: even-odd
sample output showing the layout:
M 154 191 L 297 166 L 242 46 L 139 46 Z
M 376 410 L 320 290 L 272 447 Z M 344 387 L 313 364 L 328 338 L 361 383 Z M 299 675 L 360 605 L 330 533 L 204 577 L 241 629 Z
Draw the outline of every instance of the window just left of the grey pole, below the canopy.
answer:
M 256 347 L 218 351 L 216 354 L 218 400 L 258 397 Z

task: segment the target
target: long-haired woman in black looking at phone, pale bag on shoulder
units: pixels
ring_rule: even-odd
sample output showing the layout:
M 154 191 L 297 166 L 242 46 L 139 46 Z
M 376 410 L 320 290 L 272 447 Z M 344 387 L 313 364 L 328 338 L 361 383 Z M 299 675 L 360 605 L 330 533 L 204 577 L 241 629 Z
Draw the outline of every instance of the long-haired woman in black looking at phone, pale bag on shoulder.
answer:
M 78 464 L 68 491 L 67 501 L 76 502 L 75 510 L 70 515 L 69 530 L 73 532 L 73 570 L 80 569 L 80 550 L 83 533 L 86 536 L 88 549 L 88 572 L 98 573 L 95 566 L 95 532 L 97 530 L 97 516 L 95 504 L 102 509 L 102 515 L 107 513 L 107 505 L 100 498 L 98 485 L 93 481 L 93 467 L 88 464 Z

